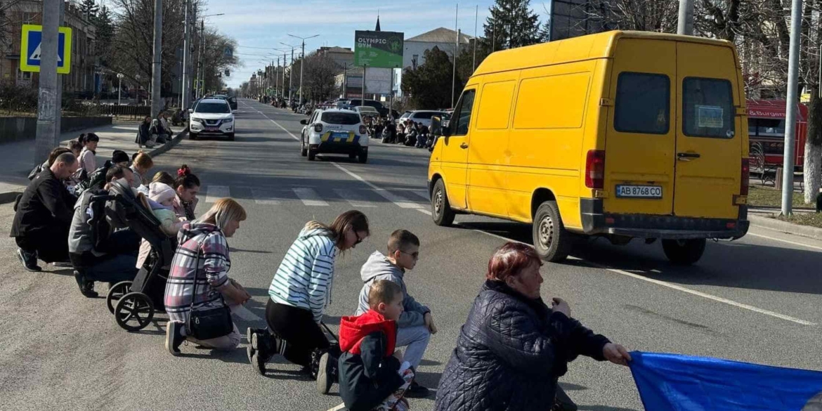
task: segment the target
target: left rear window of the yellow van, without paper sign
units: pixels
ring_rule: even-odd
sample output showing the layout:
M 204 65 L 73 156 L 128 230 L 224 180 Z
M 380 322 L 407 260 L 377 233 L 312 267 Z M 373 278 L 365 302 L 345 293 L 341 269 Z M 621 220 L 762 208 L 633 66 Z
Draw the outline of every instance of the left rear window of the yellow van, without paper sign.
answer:
M 620 73 L 614 130 L 667 134 L 671 123 L 671 80 L 663 74 Z

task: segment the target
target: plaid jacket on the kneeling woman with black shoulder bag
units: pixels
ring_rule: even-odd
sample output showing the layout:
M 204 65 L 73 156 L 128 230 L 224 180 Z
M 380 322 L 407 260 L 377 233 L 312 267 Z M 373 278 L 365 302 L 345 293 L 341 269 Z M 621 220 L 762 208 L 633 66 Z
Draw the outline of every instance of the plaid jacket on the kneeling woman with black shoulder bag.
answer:
M 219 290 L 229 284 L 231 260 L 225 236 L 215 225 L 186 223 L 178 240 L 164 303 L 171 321 L 187 323 L 192 299 L 195 310 L 224 306 Z

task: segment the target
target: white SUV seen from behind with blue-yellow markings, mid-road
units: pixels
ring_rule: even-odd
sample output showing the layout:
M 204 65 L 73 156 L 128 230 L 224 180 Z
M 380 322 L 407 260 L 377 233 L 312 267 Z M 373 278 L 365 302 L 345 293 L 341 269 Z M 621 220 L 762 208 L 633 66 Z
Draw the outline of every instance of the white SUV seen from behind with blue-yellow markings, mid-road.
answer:
M 300 120 L 300 154 L 313 161 L 321 153 L 347 154 L 349 159 L 368 160 L 368 133 L 363 118 L 352 110 L 317 109 L 311 118 Z

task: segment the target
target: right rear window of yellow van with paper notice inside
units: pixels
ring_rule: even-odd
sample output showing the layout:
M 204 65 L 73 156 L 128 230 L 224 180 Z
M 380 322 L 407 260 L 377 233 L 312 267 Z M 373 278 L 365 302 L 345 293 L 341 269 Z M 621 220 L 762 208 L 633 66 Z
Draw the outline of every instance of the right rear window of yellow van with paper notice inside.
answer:
M 686 77 L 682 90 L 682 132 L 686 136 L 733 138 L 736 130 L 730 81 Z

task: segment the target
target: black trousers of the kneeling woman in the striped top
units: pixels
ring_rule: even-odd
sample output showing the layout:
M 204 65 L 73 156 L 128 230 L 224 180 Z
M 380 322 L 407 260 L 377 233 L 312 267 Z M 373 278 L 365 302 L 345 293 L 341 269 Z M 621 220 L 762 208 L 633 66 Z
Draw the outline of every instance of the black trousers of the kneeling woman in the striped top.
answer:
M 307 367 L 315 349 L 328 349 L 330 343 L 320 325 L 314 322 L 312 312 L 271 301 L 266 305 L 266 322 L 281 339 L 284 339 L 283 356 L 291 363 Z

